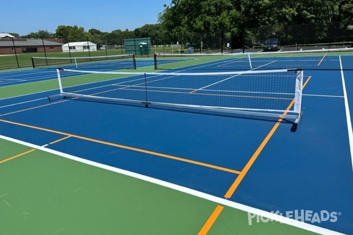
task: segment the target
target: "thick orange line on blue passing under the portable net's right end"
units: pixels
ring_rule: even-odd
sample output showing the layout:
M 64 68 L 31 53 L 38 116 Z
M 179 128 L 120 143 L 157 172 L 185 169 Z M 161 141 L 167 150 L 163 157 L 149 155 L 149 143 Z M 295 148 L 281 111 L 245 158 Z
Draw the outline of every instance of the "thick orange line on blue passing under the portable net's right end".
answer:
M 311 76 L 309 76 L 305 83 L 303 84 L 302 89 L 304 89 L 304 87 L 306 86 L 306 84 L 309 82 L 309 80 L 311 79 Z M 285 112 L 283 112 L 283 115 L 286 115 L 289 111 L 289 109 L 291 109 L 292 105 L 294 104 L 294 99 L 291 101 L 291 103 L 288 105 L 287 109 Z M 255 160 L 257 159 L 257 157 L 259 156 L 259 154 L 261 153 L 262 149 L 265 147 L 265 145 L 268 143 L 268 141 L 270 140 L 270 138 L 272 137 L 272 135 L 275 133 L 275 131 L 277 130 L 278 126 L 281 124 L 283 118 L 279 118 L 277 120 L 277 122 L 275 123 L 275 125 L 272 127 L 272 129 L 270 130 L 270 132 L 267 134 L 267 136 L 264 138 L 264 140 L 261 142 L 260 146 L 256 149 L 255 153 L 251 156 L 250 160 L 246 163 L 245 167 L 243 168 L 243 170 L 241 170 L 240 174 L 238 175 L 238 177 L 234 180 L 233 184 L 231 185 L 231 187 L 229 187 L 228 191 L 226 192 L 226 194 L 224 195 L 225 198 L 231 198 L 234 191 L 237 189 L 237 187 L 239 186 L 241 180 L 243 180 L 243 178 L 245 177 L 246 173 L 249 171 L 250 167 L 252 166 L 252 164 L 255 162 Z

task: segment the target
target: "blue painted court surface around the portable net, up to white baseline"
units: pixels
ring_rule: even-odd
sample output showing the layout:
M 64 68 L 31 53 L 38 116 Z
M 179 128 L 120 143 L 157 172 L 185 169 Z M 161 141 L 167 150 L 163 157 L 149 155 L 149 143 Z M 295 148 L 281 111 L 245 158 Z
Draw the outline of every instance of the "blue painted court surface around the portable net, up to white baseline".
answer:
M 326 57 L 322 63 L 331 59 Z M 323 234 L 353 235 L 353 71 L 339 70 L 338 61 L 337 70 L 304 69 L 304 112 L 296 132 L 291 131 L 291 122 L 278 118 L 210 115 L 92 100 L 49 101 L 48 96 L 59 93 L 52 90 L 1 99 L 0 135 L 263 211 L 277 211 L 283 216 L 292 212 L 292 218 L 294 211 L 299 211 L 308 214 L 303 219 L 305 223 L 327 229 Z M 229 62 L 224 61 L 224 66 Z M 147 66 L 153 61 L 137 60 L 139 63 Z M 204 65 L 209 68 L 207 72 L 212 70 L 211 66 L 217 67 L 212 72 L 221 71 L 219 62 Z M 254 64 L 253 70 L 256 66 L 261 65 Z M 190 66 L 178 72 L 201 70 L 199 66 Z M 1 72 L 0 86 L 55 78 L 53 69 Z M 222 78 L 217 79 L 195 83 L 183 78 L 184 82 L 173 87 L 174 80 L 163 76 L 163 81 L 156 85 L 151 82 L 150 86 L 168 87 L 156 92 L 165 95 L 162 99 L 166 102 L 188 99 L 190 94 L 184 93 L 192 92 L 198 93 L 196 102 L 204 100 L 217 106 L 222 102 L 217 95 L 223 93 L 215 92 L 231 89 L 238 77 L 225 83 Z M 267 79 L 269 82 L 270 78 Z M 241 81 L 240 78 L 240 85 Z M 255 86 L 249 89 L 266 85 L 256 78 L 253 81 Z M 139 82 L 123 85 L 133 88 L 129 91 L 137 97 L 144 91 Z M 207 88 L 200 89 L 203 87 Z M 75 87 L 82 88 L 85 87 Z M 93 92 L 97 91 L 103 92 Z M 116 91 L 109 93 L 115 94 Z M 216 98 L 209 94 L 216 94 Z M 124 98 L 126 95 L 122 94 Z M 226 104 L 231 102 L 223 96 Z M 238 97 L 235 102 L 241 103 L 243 98 Z M 286 109 L 291 99 L 274 109 Z M 61 141 L 49 144 L 54 140 Z M 327 211 L 332 220 L 321 217 L 322 211 Z M 319 219 L 313 219 L 315 213 Z

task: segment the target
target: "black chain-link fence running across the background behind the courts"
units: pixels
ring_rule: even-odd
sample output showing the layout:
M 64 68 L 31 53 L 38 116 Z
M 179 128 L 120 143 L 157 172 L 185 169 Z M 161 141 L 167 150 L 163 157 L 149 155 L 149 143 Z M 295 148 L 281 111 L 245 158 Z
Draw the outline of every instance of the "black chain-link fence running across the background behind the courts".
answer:
M 165 32 L 151 38 L 148 54 L 154 53 L 244 53 L 262 51 L 268 38 L 278 38 L 281 50 L 330 49 L 353 46 L 353 21 L 280 25 L 216 32 Z M 2 38 L 0 69 L 31 66 L 31 57 L 83 57 L 125 54 L 124 38 L 106 37 Z M 138 50 L 139 45 L 133 48 Z

